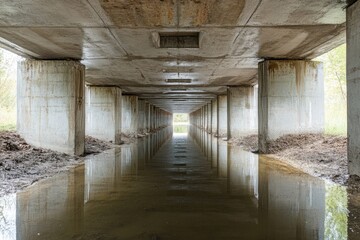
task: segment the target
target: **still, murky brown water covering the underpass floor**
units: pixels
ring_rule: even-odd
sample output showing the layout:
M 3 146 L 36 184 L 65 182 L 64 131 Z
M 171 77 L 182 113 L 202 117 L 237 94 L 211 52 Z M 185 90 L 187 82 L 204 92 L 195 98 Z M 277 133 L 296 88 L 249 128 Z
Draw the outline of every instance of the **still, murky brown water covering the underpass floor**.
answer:
M 360 239 L 344 187 L 207 134 L 167 135 L 0 199 L 0 239 Z

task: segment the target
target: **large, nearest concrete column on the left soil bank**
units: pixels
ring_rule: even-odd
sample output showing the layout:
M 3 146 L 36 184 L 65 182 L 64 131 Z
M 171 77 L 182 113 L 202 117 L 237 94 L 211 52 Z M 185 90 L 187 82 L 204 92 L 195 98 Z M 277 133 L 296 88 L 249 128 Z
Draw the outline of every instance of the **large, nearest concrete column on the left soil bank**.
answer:
M 85 149 L 85 67 L 77 61 L 18 64 L 17 130 L 37 147 L 81 155 Z

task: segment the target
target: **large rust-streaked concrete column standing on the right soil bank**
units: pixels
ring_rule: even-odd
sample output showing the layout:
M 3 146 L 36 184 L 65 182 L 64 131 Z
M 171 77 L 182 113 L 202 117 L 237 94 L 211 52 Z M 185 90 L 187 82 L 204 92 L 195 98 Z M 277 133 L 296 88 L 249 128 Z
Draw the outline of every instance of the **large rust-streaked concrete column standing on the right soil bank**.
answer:
M 323 133 L 324 81 L 320 62 L 259 63 L 259 150 L 285 134 Z

